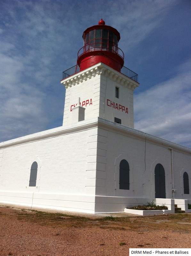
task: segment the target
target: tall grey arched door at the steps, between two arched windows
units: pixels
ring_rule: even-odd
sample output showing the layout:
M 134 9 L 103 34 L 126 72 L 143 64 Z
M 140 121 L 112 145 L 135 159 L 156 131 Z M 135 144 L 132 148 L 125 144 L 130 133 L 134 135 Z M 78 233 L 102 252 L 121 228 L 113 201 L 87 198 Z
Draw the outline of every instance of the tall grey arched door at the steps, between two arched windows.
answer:
M 155 198 L 166 198 L 165 172 L 162 164 L 155 166 Z

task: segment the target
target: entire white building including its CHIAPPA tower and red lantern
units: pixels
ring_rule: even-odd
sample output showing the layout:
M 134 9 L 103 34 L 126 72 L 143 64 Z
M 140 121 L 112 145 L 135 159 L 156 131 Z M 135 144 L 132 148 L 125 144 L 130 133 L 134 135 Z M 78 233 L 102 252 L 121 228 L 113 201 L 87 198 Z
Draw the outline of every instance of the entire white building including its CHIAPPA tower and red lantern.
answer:
M 61 80 L 63 126 L 0 143 L 0 204 L 107 213 L 154 200 L 188 212 L 191 149 L 134 129 L 139 83 L 118 31 L 100 20 L 83 39 Z

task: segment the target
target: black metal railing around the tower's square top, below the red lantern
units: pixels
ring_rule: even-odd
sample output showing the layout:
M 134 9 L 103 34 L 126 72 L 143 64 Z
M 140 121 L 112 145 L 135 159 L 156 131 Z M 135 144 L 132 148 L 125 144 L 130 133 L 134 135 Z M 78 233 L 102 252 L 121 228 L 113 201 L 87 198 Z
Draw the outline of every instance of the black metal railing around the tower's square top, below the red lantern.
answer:
M 100 55 L 99 55 L 99 57 L 100 57 Z M 67 78 L 67 77 L 69 77 L 69 76 L 72 76 L 72 75 L 74 75 L 74 74 L 76 74 L 76 73 L 78 73 L 78 72 L 80 72 L 82 70 L 84 70 L 84 68 L 82 68 L 83 64 L 84 64 L 84 66 L 91 67 L 91 66 L 95 65 L 95 62 L 96 62 L 95 61 L 95 56 L 93 56 L 93 57 L 89 58 L 88 60 L 82 61 L 80 63 L 80 67 L 81 68 L 78 65 L 75 65 L 75 66 L 73 66 L 71 68 L 68 68 L 67 70 L 62 72 L 62 80 Z M 102 61 L 99 61 L 99 62 L 102 62 Z M 115 66 L 119 66 L 119 67 L 121 66 L 120 63 L 118 63 L 115 60 L 112 60 L 112 59 L 110 59 L 108 57 L 107 57 L 107 62 L 108 63 L 106 63 L 106 59 L 104 58 L 104 62 L 103 63 L 108 65 L 108 66 L 111 66 L 111 63 L 115 63 Z M 120 68 L 119 68 L 119 70 L 120 70 Z M 138 82 L 138 74 L 136 74 L 135 72 L 133 72 L 129 68 L 126 68 L 126 67 L 123 66 L 119 72 L 122 73 L 123 75 L 131 78 L 133 81 Z

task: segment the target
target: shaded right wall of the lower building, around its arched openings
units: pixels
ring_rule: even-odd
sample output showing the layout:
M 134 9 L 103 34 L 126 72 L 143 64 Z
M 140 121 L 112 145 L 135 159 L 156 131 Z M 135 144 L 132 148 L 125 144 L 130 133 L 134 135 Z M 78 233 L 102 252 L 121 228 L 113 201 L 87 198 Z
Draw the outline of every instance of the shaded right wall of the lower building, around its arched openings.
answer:
M 155 166 L 160 163 L 165 170 L 166 198 L 174 196 L 191 199 L 191 194 L 183 193 L 183 172 L 186 171 L 189 178 L 191 177 L 191 149 L 130 128 L 121 126 L 121 129 L 120 126 L 113 123 L 98 131 L 104 136 L 104 142 L 107 145 L 105 162 L 102 159 L 102 163 L 105 163 L 105 195 L 154 198 Z M 173 156 L 173 181 L 169 147 L 172 148 Z M 122 159 L 127 160 L 130 166 L 129 190 L 119 189 L 119 164 Z M 174 195 L 172 182 L 176 189 Z

